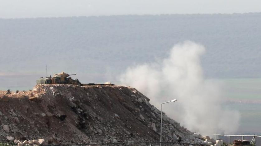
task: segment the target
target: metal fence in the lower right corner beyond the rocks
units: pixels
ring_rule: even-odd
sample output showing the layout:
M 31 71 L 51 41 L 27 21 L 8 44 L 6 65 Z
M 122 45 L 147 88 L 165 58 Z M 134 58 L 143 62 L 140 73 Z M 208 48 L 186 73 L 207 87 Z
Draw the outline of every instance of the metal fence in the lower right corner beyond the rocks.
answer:
M 223 134 L 210 134 L 213 135 L 216 140 L 222 139 L 227 144 L 232 144 L 233 140 L 248 140 L 251 144 L 261 146 L 261 136 L 259 135 L 223 135 Z

